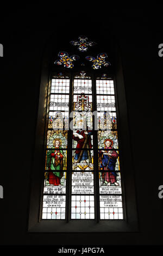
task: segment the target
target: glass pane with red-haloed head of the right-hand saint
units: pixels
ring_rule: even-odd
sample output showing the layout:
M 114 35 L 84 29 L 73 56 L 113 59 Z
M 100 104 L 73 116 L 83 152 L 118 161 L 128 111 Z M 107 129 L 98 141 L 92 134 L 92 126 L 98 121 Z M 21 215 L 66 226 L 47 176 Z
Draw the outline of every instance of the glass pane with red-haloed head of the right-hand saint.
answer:
M 117 131 L 98 131 L 98 148 L 118 149 Z

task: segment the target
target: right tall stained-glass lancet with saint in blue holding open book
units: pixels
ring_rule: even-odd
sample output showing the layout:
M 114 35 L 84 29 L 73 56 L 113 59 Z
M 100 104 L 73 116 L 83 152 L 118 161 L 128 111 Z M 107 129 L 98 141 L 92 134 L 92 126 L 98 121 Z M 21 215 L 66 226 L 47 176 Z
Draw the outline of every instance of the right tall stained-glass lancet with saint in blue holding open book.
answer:
M 97 78 L 98 168 L 101 220 L 122 220 L 122 185 L 114 81 Z

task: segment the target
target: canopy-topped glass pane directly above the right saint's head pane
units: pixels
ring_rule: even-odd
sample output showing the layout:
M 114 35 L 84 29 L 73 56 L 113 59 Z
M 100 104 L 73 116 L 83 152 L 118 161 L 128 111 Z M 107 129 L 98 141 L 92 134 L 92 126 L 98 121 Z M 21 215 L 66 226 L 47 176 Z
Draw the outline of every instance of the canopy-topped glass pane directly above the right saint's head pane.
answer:
M 115 130 L 117 129 L 116 112 L 101 111 L 97 112 L 98 129 Z

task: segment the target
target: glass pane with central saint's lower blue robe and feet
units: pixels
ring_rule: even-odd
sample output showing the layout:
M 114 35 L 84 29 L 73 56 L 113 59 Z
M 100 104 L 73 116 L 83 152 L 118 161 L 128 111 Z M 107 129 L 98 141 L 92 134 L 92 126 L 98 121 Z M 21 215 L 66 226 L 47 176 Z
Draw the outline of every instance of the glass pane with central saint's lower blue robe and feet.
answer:
M 93 170 L 93 151 L 92 150 L 73 150 L 72 152 L 73 170 Z

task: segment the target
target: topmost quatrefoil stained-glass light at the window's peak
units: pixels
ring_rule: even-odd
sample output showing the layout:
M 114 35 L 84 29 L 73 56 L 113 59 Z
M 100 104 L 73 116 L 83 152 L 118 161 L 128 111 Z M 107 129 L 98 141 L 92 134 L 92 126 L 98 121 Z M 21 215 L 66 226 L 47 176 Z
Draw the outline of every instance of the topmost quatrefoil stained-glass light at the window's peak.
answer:
M 84 35 L 80 35 L 78 37 L 79 41 L 71 41 L 70 44 L 74 46 L 78 46 L 78 50 L 80 52 L 86 52 L 88 50 L 88 46 L 93 46 L 96 44 L 96 42 L 89 41 L 87 42 L 88 38 Z

